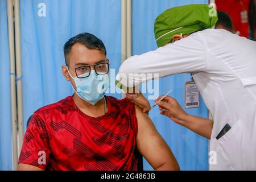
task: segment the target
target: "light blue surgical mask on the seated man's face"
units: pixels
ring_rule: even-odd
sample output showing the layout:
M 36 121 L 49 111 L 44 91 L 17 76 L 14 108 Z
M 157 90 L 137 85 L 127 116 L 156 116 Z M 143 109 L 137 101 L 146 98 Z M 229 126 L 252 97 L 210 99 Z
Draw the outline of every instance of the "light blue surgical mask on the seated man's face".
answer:
M 71 76 L 70 73 L 69 75 Z M 72 88 L 75 90 L 77 95 L 82 98 L 82 100 L 85 100 L 93 105 L 104 97 L 106 90 L 109 88 L 109 74 L 97 75 L 94 69 L 90 71 L 89 77 L 75 77 L 73 80 L 76 83 L 76 90 L 73 88 L 73 86 Z

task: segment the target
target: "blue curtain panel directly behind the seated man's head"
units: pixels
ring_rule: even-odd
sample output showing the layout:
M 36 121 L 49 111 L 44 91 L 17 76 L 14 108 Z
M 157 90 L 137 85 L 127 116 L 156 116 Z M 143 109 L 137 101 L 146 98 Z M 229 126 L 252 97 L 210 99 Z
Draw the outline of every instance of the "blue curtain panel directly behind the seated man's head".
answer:
M 73 93 L 61 73 L 63 46 L 69 38 L 82 32 L 96 35 L 106 46 L 110 68 L 118 70 L 120 7 L 116 0 L 20 1 L 24 122 L 40 107 Z

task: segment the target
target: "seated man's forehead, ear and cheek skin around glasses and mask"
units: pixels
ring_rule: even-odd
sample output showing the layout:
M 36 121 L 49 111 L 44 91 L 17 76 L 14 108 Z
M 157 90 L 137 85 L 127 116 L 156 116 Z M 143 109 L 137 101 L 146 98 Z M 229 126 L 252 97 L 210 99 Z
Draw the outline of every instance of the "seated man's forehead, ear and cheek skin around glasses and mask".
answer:
M 68 61 L 69 73 L 73 78 L 76 77 L 76 68 L 85 65 L 94 65 L 102 62 L 104 63 L 106 61 L 109 63 L 109 60 L 106 60 L 104 53 L 97 49 L 88 49 L 81 43 L 76 43 L 72 46 L 71 51 L 67 55 L 66 59 Z M 66 80 L 71 81 L 73 88 L 76 89 L 75 81 L 69 75 L 67 67 L 63 65 L 61 69 Z M 92 70 L 94 68 L 91 67 L 90 69 Z

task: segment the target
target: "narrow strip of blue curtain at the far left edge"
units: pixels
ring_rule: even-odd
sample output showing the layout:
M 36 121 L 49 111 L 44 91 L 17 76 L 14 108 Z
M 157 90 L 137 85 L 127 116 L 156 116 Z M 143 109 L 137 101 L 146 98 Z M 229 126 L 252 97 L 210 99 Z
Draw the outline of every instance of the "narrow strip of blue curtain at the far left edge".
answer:
M 6 1 L 0 1 L 0 171 L 12 168 L 7 7 Z

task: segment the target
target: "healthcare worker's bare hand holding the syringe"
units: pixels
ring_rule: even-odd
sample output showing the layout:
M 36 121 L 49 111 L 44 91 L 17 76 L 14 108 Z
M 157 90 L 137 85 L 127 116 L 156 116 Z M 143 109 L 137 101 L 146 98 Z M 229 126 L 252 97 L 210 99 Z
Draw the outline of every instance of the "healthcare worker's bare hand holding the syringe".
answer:
M 160 114 L 166 115 L 172 121 L 181 124 L 184 118 L 187 117 L 187 113 L 181 108 L 179 103 L 170 96 L 164 97 L 162 101 L 159 101 L 163 96 L 159 96 L 155 103 L 159 106 Z

